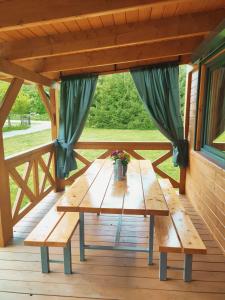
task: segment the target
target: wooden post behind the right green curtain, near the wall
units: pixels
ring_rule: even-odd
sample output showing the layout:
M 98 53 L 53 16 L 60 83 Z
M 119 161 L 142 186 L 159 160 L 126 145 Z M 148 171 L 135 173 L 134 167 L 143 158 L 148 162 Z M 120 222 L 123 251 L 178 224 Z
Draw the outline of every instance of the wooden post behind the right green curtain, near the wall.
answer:
M 188 139 L 188 133 L 189 133 L 191 82 L 192 82 L 192 71 L 187 74 L 187 78 L 186 78 L 185 111 L 184 111 L 184 138 L 185 139 Z M 185 194 L 185 184 L 186 184 L 186 168 L 180 168 L 180 187 L 179 187 L 180 194 Z

